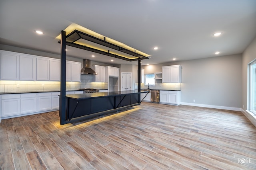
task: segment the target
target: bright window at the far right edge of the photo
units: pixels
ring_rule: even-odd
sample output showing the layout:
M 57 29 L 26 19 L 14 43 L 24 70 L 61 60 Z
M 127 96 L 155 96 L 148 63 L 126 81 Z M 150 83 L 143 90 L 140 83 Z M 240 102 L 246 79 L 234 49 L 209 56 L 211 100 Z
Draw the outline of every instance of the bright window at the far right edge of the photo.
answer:
M 256 61 L 250 64 L 250 111 L 256 114 Z

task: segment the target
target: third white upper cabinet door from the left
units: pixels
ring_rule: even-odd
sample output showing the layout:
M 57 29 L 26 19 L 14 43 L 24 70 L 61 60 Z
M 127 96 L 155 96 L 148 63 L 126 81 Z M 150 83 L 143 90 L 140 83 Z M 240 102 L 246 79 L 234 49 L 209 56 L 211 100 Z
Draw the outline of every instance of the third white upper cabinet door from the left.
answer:
M 36 59 L 36 80 L 49 81 L 50 59 Z

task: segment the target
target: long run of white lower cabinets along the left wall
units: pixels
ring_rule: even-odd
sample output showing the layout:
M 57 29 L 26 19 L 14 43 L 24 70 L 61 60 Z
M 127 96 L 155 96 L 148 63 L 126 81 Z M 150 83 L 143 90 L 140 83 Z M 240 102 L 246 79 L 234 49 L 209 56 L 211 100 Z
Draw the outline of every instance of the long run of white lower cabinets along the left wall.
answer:
M 68 91 L 66 94 L 82 94 Z M 60 92 L 39 92 L 0 95 L 0 119 L 44 113 L 59 109 Z

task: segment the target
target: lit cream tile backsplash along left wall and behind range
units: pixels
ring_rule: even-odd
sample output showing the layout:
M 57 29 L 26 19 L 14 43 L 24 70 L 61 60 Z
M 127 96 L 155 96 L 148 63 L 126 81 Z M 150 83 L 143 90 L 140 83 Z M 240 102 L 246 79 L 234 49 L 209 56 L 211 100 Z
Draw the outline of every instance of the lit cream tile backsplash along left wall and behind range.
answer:
M 66 82 L 66 90 L 79 88 L 107 89 L 107 82 L 94 82 L 94 76 L 81 75 L 81 82 Z M 9 81 L 0 80 L 0 92 L 32 92 L 60 90 L 60 82 L 56 81 Z

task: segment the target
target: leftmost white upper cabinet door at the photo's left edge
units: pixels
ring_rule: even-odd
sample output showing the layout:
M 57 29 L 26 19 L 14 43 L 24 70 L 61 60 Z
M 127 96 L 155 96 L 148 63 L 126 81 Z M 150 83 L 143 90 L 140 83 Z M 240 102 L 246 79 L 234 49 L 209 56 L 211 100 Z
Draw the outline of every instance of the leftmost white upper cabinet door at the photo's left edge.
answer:
M 1 52 L 1 80 L 19 80 L 19 56 Z

